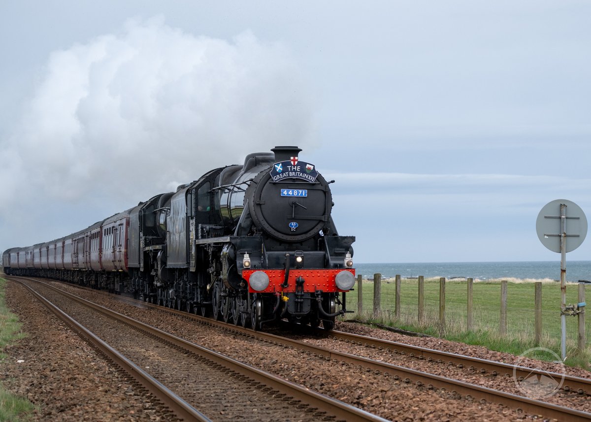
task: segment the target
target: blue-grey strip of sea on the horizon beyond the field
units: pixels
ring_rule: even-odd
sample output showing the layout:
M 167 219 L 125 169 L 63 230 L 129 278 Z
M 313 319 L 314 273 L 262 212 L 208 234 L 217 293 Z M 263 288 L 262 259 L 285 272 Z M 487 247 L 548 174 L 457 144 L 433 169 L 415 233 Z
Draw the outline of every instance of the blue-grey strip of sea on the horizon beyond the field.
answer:
M 447 280 L 560 280 L 560 261 L 355 263 L 355 270 L 356 274 L 370 279 L 379 273 L 382 278 L 400 274 L 402 278 L 423 275 L 425 278 L 446 277 Z M 591 282 L 591 261 L 567 261 L 566 280 Z

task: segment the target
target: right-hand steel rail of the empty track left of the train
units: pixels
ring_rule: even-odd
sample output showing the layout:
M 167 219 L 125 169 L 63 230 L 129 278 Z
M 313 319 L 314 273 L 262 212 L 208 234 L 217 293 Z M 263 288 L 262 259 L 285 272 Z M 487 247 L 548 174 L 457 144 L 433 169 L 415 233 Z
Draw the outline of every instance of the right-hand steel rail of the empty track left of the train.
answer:
M 133 326 L 140 330 L 144 330 L 145 332 L 151 335 L 157 336 L 166 342 L 170 342 L 173 345 L 186 349 L 191 353 L 203 356 L 204 358 L 209 359 L 210 361 L 217 363 L 218 365 L 222 365 L 225 368 L 228 368 L 232 371 L 248 376 L 249 378 L 261 382 L 262 384 L 265 384 L 268 387 L 278 389 L 284 394 L 294 397 L 297 401 L 310 405 L 310 407 L 312 408 L 317 408 L 317 411 L 322 411 L 335 415 L 337 420 L 342 419 L 346 421 L 356 422 L 387 422 L 387 419 L 381 418 L 378 415 L 374 415 L 365 410 L 361 410 L 358 407 L 352 406 L 340 400 L 336 400 L 332 397 L 328 397 L 318 392 L 311 391 L 306 387 L 302 387 L 301 385 L 287 381 L 286 379 L 282 379 L 279 376 L 273 375 L 266 371 L 262 371 L 261 369 L 255 368 L 254 366 L 250 366 L 246 363 L 237 361 L 236 359 L 224 356 L 220 353 L 215 352 L 214 350 L 210 350 L 204 348 L 203 346 L 196 345 L 195 343 L 191 343 L 185 339 L 182 339 L 181 337 L 171 335 L 170 333 L 164 332 L 163 330 L 157 329 L 156 327 L 152 327 L 148 324 L 134 320 L 128 316 L 120 314 L 106 307 L 100 306 L 96 303 L 92 303 L 91 301 L 78 297 L 72 293 L 68 293 L 66 291 L 60 290 L 56 287 L 53 287 L 40 281 L 36 281 L 36 283 L 44 284 L 46 285 L 46 287 L 59 291 L 60 294 L 63 294 L 64 296 L 67 296 L 72 300 L 75 300 L 80 304 L 83 304 L 84 306 L 90 307 L 91 309 L 94 309 L 101 313 L 108 314 L 109 316 L 121 320 L 126 324 L 129 324 L 130 326 Z

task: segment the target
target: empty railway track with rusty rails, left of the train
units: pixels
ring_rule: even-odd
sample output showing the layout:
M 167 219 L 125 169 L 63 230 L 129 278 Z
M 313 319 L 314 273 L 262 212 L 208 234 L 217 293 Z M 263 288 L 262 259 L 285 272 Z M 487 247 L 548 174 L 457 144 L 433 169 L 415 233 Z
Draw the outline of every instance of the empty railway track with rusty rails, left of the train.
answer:
M 33 288 L 30 283 L 15 281 L 25 285 L 60 319 L 92 341 L 184 420 L 207 421 L 212 414 L 215 420 L 243 417 L 248 398 L 257 408 L 264 408 L 254 420 L 385 421 L 50 285 L 43 283 L 43 287 Z M 35 290 L 43 290 L 67 312 Z M 83 324 L 67 313 L 76 314 Z M 118 350 L 125 350 L 125 356 Z

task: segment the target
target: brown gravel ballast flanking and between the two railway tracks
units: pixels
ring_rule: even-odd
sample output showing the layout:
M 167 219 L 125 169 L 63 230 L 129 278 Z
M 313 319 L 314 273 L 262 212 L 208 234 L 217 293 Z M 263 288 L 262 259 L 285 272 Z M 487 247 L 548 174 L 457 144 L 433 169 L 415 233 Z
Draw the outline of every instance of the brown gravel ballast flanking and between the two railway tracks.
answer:
M 187 323 L 183 317 L 131 306 L 93 291 L 81 291 L 63 284 L 59 287 L 391 420 L 530 419 L 498 405 L 456 400 L 450 393 L 426 391 L 402 381 L 385 380 L 383 376 L 337 362 L 303 359 L 297 350 L 278 349 L 223 330 Z M 167 420 L 165 410 L 146 397 L 145 391 L 135 388 L 119 371 L 96 356 L 79 337 L 57 323 L 53 314 L 35 303 L 24 288 L 9 282 L 7 303 L 18 314 L 30 337 L 7 348 L 9 358 L 0 364 L 0 371 L 9 379 L 5 382 L 7 388 L 29 397 L 40 407 L 34 420 L 54 420 L 57 415 L 60 420 Z M 357 324 L 337 323 L 336 329 L 482 358 L 511 359 L 511 355 L 485 348 L 441 339 L 402 336 Z M 38 359 L 42 355 L 44 358 Z M 18 359 L 25 362 L 16 363 Z M 49 369 L 49 376 L 35 381 L 37 374 L 46 371 L 47 367 L 56 369 Z M 569 369 L 569 372 L 589 376 L 576 369 Z M 82 386 L 75 387 L 78 383 Z

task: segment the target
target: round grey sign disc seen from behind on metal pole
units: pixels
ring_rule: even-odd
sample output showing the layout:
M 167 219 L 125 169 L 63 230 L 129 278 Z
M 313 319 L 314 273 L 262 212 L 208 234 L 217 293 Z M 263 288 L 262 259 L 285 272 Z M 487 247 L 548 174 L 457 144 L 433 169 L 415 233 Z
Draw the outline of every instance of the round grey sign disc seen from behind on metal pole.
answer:
M 548 202 L 538 214 L 535 221 L 535 231 L 542 244 L 550 251 L 560 254 L 561 237 L 561 205 L 566 215 L 566 252 L 574 251 L 584 241 L 587 235 L 587 218 L 583 210 L 574 202 L 566 199 L 557 199 Z

